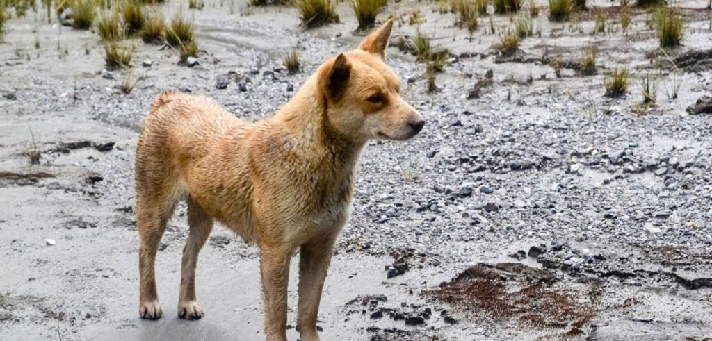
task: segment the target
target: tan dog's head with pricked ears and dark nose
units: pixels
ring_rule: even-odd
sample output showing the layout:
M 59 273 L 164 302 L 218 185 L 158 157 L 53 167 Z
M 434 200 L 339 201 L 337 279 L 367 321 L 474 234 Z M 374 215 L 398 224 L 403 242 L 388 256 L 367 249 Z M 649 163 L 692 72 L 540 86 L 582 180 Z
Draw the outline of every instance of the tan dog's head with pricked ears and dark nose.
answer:
M 359 48 L 324 63 L 318 71 L 327 100 L 328 125 L 353 140 L 408 140 L 425 125 L 400 96 L 400 80 L 385 63 L 393 21 L 367 36 Z

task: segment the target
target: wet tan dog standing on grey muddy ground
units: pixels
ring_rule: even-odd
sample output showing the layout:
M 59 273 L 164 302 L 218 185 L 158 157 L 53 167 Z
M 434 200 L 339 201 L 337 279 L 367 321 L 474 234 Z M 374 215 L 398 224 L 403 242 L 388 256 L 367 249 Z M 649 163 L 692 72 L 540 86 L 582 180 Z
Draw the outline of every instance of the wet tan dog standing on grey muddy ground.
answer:
M 359 49 L 321 65 L 265 120 L 245 122 L 199 96 L 163 93 L 155 100 L 136 152 L 142 318 L 162 315 L 156 251 L 177 202 L 187 200 L 178 315 L 203 316 L 196 262 L 219 221 L 260 248 L 268 340 L 286 340 L 289 263 L 300 251 L 297 326 L 302 340 L 319 340 L 321 291 L 349 216 L 361 149 L 373 138 L 407 140 L 424 125 L 384 63 L 391 28 L 389 21 Z

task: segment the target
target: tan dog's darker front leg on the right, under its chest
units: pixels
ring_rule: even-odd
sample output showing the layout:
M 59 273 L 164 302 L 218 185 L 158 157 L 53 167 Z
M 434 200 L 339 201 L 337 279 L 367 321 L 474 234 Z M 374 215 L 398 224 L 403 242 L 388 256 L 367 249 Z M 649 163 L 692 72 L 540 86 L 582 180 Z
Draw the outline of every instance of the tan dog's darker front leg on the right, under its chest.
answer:
M 300 249 L 297 327 L 303 341 L 319 340 L 319 303 L 335 241 L 335 234 L 317 236 Z

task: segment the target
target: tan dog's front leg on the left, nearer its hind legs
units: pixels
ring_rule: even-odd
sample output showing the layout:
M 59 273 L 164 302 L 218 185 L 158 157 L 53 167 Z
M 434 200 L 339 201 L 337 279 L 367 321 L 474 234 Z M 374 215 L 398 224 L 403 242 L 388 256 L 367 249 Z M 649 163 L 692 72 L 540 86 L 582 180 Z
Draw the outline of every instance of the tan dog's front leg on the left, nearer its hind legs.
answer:
M 263 246 L 260 253 L 265 335 L 269 341 L 287 340 L 287 283 L 290 250 Z

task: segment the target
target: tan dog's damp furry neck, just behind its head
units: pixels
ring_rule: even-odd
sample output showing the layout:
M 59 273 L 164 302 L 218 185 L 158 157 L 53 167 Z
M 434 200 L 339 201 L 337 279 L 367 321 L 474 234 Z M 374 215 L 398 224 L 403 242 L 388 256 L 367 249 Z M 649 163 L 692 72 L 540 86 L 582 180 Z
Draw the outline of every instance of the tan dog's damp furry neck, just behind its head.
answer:
M 312 76 L 298 93 L 273 117 L 284 122 L 284 128 L 299 149 L 309 150 L 315 162 L 332 158 L 333 167 L 353 167 L 366 140 L 353 140 L 337 132 L 326 115 L 327 100 Z

